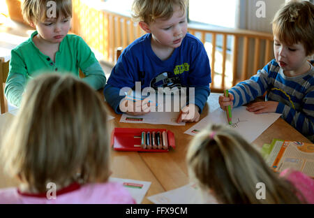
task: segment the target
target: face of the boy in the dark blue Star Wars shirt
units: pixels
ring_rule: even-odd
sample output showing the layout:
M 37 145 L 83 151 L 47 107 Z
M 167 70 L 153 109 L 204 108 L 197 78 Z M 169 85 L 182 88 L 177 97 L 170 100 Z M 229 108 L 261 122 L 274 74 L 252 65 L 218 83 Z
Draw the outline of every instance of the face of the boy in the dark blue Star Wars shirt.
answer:
M 178 48 L 186 36 L 188 22 L 186 12 L 182 13 L 179 6 L 174 7 L 174 13 L 168 20 L 156 19 L 149 24 L 152 40 L 168 48 Z

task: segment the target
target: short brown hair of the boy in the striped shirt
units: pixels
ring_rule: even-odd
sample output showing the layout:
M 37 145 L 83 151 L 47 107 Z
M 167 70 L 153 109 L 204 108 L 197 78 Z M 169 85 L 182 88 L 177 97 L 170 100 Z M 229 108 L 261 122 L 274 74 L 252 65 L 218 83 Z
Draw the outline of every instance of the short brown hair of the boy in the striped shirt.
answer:
M 314 53 L 314 5 L 309 1 L 290 1 L 276 13 L 273 34 L 289 45 L 301 42 L 306 56 Z

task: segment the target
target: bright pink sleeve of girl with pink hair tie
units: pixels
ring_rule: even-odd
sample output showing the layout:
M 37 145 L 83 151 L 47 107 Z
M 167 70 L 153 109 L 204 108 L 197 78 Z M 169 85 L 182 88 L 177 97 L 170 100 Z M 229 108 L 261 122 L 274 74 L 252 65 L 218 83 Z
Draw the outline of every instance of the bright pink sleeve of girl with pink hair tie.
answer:
M 294 187 L 301 192 L 308 203 L 314 204 L 314 180 L 297 170 L 285 169 L 281 172 L 281 177 L 285 177 Z M 302 198 L 300 198 L 302 199 Z

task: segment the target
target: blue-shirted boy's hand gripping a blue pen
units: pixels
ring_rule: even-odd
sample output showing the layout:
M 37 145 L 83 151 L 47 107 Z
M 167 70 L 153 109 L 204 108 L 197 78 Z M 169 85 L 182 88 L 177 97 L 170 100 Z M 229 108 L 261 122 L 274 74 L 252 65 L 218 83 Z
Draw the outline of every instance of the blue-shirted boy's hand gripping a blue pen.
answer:
M 132 101 L 129 99 L 124 99 L 120 103 L 120 110 L 122 112 L 126 112 L 128 115 L 139 116 L 151 112 L 150 106 L 152 105 L 149 102 L 149 98 L 142 101 Z

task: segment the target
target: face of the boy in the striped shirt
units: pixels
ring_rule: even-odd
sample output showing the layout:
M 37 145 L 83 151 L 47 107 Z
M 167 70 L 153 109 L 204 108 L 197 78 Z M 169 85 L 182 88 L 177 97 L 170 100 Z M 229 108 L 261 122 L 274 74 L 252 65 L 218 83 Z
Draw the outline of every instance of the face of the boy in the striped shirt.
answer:
M 274 53 L 283 71 L 297 72 L 307 64 L 306 50 L 302 43 L 287 45 L 275 36 Z

